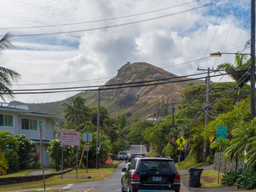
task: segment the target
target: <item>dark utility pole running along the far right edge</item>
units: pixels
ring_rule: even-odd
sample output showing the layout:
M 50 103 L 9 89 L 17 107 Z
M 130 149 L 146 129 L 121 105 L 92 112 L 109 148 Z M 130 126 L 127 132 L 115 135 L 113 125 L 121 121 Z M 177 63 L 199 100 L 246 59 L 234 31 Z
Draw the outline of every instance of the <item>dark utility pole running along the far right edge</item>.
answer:
M 251 119 L 255 117 L 255 0 L 251 0 Z

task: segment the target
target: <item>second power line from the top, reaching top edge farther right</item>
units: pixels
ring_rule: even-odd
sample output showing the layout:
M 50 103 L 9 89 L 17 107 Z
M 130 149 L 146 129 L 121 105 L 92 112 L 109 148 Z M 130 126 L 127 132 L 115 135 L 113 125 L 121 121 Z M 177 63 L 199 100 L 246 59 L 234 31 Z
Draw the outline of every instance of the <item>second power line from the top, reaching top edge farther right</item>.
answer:
M 26 37 L 26 36 L 41 36 L 41 35 L 57 35 L 57 34 L 78 33 L 78 32 L 85 32 L 85 31 L 95 31 L 95 30 L 100 30 L 100 29 L 121 27 L 121 26 L 126 26 L 126 25 L 131 25 L 131 24 L 138 24 L 138 23 L 142 23 L 142 22 L 148 22 L 150 20 L 155 20 L 155 19 L 159 19 L 159 18 L 164 18 L 164 17 L 168 17 L 168 16 L 173 16 L 173 15 L 185 13 L 185 12 L 188 12 L 188 11 L 197 10 L 197 9 L 207 7 L 207 6 L 210 6 L 210 5 L 215 5 L 217 3 L 221 3 L 221 2 L 224 2 L 224 1 L 226 1 L 226 0 L 218 0 L 216 2 L 211 2 L 209 4 L 205 4 L 205 5 L 202 5 L 202 6 L 199 6 L 199 7 L 195 7 L 195 8 L 175 12 L 175 13 L 170 13 L 170 14 L 166 14 L 166 15 L 162 15 L 162 16 L 158 16 L 158 17 L 152 17 L 152 18 L 148 18 L 148 19 L 137 20 L 135 22 L 129 22 L 129 23 L 124 23 L 124 24 L 104 26 L 104 27 L 98 27 L 98 28 L 90 28 L 90 29 L 82 29 L 82 30 L 75 30 L 75 31 L 63 31 L 63 32 L 52 32 L 52 33 L 35 33 L 35 34 L 18 34 L 18 35 L 15 35 L 15 36 L 16 37 Z M 0 37 L 2 37 L 2 36 L 3 35 L 0 35 Z

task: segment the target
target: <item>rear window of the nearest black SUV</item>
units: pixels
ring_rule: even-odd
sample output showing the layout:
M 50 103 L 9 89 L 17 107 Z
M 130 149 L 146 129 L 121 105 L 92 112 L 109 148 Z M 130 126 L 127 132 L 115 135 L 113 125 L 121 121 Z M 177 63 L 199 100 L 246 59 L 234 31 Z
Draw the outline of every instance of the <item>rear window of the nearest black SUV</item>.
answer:
M 150 172 L 151 170 L 177 174 L 173 161 L 140 160 L 137 166 L 138 172 Z

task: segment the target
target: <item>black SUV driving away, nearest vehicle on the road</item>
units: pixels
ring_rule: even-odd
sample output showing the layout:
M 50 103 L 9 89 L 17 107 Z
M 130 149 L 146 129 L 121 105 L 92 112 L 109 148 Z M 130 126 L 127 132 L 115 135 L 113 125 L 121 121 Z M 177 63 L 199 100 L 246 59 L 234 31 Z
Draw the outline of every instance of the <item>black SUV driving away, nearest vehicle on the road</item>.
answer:
M 121 191 L 180 191 L 180 175 L 174 161 L 166 158 L 135 158 L 121 179 Z

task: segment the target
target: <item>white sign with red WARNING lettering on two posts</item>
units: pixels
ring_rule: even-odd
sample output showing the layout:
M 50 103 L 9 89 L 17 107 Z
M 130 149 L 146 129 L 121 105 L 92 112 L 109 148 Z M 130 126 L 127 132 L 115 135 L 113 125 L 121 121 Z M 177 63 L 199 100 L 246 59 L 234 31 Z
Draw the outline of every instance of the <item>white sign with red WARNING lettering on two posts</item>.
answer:
M 76 146 L 76 179 L 77 179 L 78 146 L 80 146 L 80 132 L 61 131 L 60 132 L 60 145 Z M 63 164 L 63 159 L 62 159 L 62 164 Z M 63 170 L 62 170 L 61 174 L 63 174 Z

